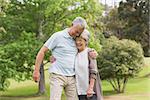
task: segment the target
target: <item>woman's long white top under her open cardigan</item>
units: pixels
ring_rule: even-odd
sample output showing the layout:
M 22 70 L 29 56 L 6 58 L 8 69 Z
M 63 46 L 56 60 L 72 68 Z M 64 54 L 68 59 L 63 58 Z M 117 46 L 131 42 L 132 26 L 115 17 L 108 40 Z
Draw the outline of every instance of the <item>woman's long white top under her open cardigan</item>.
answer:
M 75 60 L 75 75 L 78 95 L 86 95 L 89 86 L 88 48 L 79 52 Z

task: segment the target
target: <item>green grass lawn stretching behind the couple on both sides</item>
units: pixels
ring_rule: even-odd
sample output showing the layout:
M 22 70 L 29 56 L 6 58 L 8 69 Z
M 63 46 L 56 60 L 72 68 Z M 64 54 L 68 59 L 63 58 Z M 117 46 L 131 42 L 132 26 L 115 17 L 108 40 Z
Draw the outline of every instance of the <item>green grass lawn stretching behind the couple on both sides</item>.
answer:
M 150 58 L 145 58 L 145 66 L 139 75 L 134 79 L 129 79 L 126 86 L 126 92 L 123 94 L 117 94 L 113 91 L 113 88 L 107 81 L 102 81 L 103 94 L 107 98 L 109 96 L 131 96 L 131 100 L 150 100 Z M 5 92 L 0 92 L 0 100 L 49 100 L 49 75 L 46 75 L 46 94 L 43 96 L 37 96 L 37 83 L 33 81 L 16 82 L 10 80 L 11 85 Z M 149 76 L 148 76 L 149 75 Z M 62 100 L 65 100 L 64 93 Z M 115 99 L 108 99 L 115 100 Z M 120 99 L 124 100 L 124 99 Z

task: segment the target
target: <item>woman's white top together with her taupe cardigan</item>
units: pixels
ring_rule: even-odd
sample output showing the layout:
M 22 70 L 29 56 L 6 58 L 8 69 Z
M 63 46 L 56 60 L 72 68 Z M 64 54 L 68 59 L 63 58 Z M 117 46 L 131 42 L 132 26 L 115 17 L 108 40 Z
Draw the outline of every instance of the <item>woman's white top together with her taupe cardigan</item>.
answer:
M 96 59 L 89 56 L 90 48 L 85 48 L 79 52 L 75 60 L 76 86 L 78 95 L 86 95 L 89 87 L 89 81 L 94 78 L 94 92 L 97 95 L 97 100 L 103 100 L 101 90 L 101 80 L 97 70 Z

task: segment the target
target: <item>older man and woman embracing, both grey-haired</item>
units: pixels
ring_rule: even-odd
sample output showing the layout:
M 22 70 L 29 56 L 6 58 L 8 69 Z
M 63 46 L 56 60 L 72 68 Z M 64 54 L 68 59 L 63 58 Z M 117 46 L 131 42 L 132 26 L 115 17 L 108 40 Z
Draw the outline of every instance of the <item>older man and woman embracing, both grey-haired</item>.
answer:
M 55 59 L 49 68 L 50 100 L 61 100 L 63 89 L 67 100 L 103 100 L 96 51 L 87 47 L 90 33 L 86 26 L 83 18 L 75 18 L 71 27 L 54 33 L 37 54 L 34 81 L 39 81 L 48 50 Z

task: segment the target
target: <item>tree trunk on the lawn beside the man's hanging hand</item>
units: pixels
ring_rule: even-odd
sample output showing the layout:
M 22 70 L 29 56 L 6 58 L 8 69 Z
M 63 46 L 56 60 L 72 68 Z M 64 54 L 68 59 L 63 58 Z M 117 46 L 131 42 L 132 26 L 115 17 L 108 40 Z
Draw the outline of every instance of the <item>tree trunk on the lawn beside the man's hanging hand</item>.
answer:
M 42 63 L 40 66 L 40 81 L 39 81 L 39 90 L 38 94 L 44 94 L 45 93 L 45 75 L 44 75 L 44 64 Z

